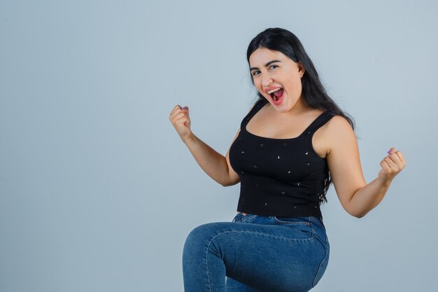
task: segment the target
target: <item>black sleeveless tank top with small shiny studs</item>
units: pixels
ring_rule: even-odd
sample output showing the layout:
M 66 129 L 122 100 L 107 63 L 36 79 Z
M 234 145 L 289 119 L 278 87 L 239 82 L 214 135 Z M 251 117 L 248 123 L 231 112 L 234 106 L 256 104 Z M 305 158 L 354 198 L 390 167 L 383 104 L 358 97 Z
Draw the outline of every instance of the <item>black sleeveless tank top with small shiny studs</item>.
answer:
M 313 150 L 311 139 L 333 115 L 321 113 L 292 139 L 260 137 L 246 131 L 246 125 L 266 103 L 266 99 L 255 103 L 229 149 L 229 163 L 241 180 L 237 211 L 322 218 L 320 203 L 328 174 L 327 159 Z

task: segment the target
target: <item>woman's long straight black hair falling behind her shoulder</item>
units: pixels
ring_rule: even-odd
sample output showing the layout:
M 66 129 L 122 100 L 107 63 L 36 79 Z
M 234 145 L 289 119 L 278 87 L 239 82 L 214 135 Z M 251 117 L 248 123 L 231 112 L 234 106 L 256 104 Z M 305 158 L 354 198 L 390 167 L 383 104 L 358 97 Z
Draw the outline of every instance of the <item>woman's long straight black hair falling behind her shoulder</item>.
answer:
M 313 66 L 313 62 L 310 60 L 309 55 L 307 55 L 301 41 L 286 29 L 281 28 L 269 28 L 265 29 L 260 34 L 257 34 L 255 38 L 250 42 L 248 50 L 246 51 L 246 59 L 248 60 L 250 55 L 257 50 L 257 48 L 267 48 L 268 50 L 276 50 L 283 53 L 284 55 L 290 57 L 294 62 L 301 62 L 304 67 L 304 75 L 302 77 L 302 98 L 306 104 L 308 104 L 313 109 L 323 109 L 332 115 L 343 116 L 351 127 L 355 128 L 355 122 L 352 116 L 348 113 L 344 113 L 339 106 L 327 95 L 323 84 L 320 81 L 318 72 Z M 251 81 L 254 84 L 254 79 L 252 74 Z M 257 92 L 259 99 L 264 99 L 260 92 Z M 327 190 L 332 183 L 332 178 L 330 176 L 330 171 L 327 167 L 326 176 L 324 181 L 324 193 L 323 202 L 327 202 Z

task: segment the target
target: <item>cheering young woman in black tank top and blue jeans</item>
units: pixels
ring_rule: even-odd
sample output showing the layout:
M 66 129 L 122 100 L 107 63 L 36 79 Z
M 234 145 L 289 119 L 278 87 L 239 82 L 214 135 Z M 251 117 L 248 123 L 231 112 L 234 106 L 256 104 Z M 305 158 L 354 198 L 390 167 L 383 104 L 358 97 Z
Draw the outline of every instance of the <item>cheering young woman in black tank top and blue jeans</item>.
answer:
M 189 109 L 169 120 L 202 169 L 222 186 L 241 183 L 232 222 L 200 225 L 183 249 L 186 292 L 309 291 L 325 272 L 330 244 L 320 204 L 333 182 L 342 207 L 365 216 L 404 168 L 390 148 L 366 183 L 351 118 L 339 109 L 297 37 L 266 29 L 250 42 L 260 97 L 225 158 L 190 130 Z

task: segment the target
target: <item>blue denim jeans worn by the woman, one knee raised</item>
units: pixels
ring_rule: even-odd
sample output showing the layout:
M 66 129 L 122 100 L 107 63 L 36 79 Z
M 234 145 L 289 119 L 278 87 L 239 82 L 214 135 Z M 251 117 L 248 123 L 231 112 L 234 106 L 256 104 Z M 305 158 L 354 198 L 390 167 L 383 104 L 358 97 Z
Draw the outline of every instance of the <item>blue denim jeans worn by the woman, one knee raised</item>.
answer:
M 323 219 L 237 214 L 199 225 L 185 240 L 185 292 L 309 291 L 327 268 Z

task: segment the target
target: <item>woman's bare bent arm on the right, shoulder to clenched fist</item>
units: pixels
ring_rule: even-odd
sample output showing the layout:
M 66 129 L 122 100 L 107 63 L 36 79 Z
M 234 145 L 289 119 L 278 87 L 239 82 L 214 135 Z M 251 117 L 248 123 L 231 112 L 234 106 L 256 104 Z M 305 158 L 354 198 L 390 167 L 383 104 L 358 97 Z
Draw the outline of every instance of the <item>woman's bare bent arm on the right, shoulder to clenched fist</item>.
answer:
M 327 163 L 339 202 L 348 214 L 361 218 L 383 200 L 391 181 L 406 162 L 400 151 L 389 154 L 381 162 L 379 176 L 367 184 L 360 165 L 358 143 L 348 121 L 334 116 L 327 127 L 327 137 L 331 137 Z

